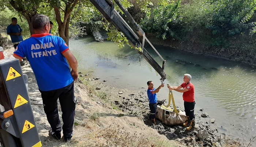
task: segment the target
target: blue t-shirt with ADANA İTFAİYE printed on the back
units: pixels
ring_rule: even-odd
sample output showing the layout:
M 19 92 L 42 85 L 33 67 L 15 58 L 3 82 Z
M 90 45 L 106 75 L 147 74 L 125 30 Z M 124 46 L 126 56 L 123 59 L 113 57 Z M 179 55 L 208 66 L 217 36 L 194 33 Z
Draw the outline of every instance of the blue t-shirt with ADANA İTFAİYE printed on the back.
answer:
M 68 45 L 59 36 L 48 33 L 33 34 L 22 41 L 14 52 L 20 57 L 27 57 L 34 71 L 37 85 L 41 91 L 56 90 L 73 82 L 66 58 Z

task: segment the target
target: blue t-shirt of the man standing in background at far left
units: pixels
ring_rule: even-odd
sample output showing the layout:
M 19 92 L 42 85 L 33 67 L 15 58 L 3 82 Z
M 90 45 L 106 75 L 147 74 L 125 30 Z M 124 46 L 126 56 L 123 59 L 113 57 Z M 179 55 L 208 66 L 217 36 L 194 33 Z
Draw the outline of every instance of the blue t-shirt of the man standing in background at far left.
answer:
M 22 28 L 18 24 L 16 25 L 8 25 L 6 28 L 7 33 L 20 33 L 22 32 Z M 12 43 L 18 44 L 20 41 L 23 41 L 22 35 L 10 35 Z

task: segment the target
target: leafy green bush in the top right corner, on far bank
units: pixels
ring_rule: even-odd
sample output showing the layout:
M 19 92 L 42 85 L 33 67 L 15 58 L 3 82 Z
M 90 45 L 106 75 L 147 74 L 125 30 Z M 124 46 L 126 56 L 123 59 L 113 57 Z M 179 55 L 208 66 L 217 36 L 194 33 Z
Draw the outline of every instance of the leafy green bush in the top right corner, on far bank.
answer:
M 211 14 L 212 22 L 207 27 L 213 34 L 233 36 L 255 26 L 248 20 L 256 10 L 256 0 L 206 0 L 206 3 L 211 5 L 206 13 Z

